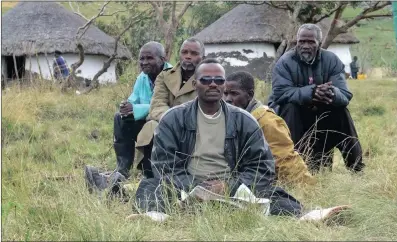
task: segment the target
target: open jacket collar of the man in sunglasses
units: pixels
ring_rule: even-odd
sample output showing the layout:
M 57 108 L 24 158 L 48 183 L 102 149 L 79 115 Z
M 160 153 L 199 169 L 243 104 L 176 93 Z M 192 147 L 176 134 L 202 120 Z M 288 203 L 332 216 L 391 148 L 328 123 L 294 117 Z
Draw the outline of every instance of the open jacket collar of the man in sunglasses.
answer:
M 230 118 L 230 110 L 229 104 L 227 104 L 222 99 L 221 108 L 225 115 L 225 122 L 226 122 L 226 138 L 234 138 L 235 137 L 235 125 L 233 124 L 233 119 Z M 190 131 L 197 130 L 197 111 L 198 111 L 198 98 L 196 97 L 189 105 L 188 111 L 186 112 L 185 116 L 185 126 L 186 129 Z

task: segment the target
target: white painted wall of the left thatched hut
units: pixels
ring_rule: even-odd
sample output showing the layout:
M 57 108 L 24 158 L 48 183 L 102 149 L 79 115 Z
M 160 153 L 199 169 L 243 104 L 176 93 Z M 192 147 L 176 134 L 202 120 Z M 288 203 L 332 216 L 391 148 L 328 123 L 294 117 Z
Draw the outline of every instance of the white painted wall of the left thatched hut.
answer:
M 71 64 L 78 61 L 79 57 L 77 54 L 64 54 L 62 55 L 65 58 L 68 66 L 70 67 Z M 41 73 L 43 74 L 44 78 L 50 79 L 52 70 L 52 63 L 54 61 L 54 57 L 52 55 L 48 56 L 48 62 L 50 67 L 48 67 L 47 60 L 44 55 L 39 55 L 38 61 L 36 57 L 32 57 L 32 72 L 40 73 L 39 72 L 39 65 L 41 68 Z M 91 79 L 94 75 L 102 68 L 103 62 L 106 61 L 108 57 L 101 56 L 101 55 L 85 55 L 83 64 L 77 69 L 81 70 L 81 73 L 78 76 L 85 77 Z M 29 70 L 29 58 L 26 58 L 25 69 Z M 103 73 L 99 77 L 99 83 L 106 83 L 106 82 L 116 82 L 116 64 L 112 62 L 108 71 Z

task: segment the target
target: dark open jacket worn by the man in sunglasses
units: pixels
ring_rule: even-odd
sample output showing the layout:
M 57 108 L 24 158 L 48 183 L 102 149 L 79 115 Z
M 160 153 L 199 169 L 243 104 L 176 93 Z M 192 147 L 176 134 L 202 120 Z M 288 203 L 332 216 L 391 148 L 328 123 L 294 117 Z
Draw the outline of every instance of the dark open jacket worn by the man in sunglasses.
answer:
M 232 178 L 230 194 L 244 183 L 260 195 L 275 178 L 274 160 L 257 121 L 246 111 L 221 101 L 226 120 L 225 159 Z M 152 169 L 155 178 L 165 179 L 188 191 L 197 185 L 187 171 L 196 143 L 198 100 L 168 110 L 153 138 Z

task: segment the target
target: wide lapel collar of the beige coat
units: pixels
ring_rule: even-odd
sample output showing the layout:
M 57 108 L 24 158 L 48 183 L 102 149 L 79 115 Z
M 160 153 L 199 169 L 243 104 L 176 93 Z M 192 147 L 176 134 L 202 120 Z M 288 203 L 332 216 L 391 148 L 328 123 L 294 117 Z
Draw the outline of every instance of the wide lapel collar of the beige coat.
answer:
M 182 68 L 181 68 L 180 62 L 178 62 L 170 70 L 170 75 L 172 76 L 172 78 L 164 78 L 164 83 L 168 87 L 168 89 L 171 91 L 172 95 L 174 95 L 175 98 L 182 96 L 186 93 L 194 91 L 194 87 L 193 87 L 194 75 L 192 77 L 190 77 L 189 80 L 181 88 Z

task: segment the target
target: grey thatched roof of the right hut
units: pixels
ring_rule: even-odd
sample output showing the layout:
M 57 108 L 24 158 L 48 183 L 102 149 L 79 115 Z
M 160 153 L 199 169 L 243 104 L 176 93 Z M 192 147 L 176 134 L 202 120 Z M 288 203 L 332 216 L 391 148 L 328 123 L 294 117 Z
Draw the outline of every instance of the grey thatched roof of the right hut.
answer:
M 240 4 L 195 35 L 206 44 L 268 42 L 280 43 L 281 33 L 288 31 L 286 11 L 263 5 Z M 318 26 L 325 35 L 330 19 Z M 351 33 L 338 35 L 333 43 L 353 44 L 359 40 Z

